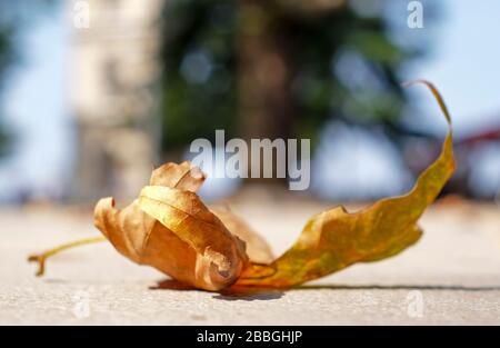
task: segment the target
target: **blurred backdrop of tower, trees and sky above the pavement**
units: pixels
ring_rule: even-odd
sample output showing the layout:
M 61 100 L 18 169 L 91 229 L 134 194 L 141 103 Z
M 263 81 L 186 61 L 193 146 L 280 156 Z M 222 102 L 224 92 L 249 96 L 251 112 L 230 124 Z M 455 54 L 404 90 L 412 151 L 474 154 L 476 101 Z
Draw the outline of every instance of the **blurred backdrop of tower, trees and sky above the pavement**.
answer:
M 423 28 L 409 26 L 406 0 L 0 0 L 0 201 L 136 197 L 153 167 L 216 129 L 311 139 L 300 197 L 398 195 L 446 133 L 431 95 L 400 87 L 418 78 L 453 116 L 459 169 L 446 192 L 493 201 L 500 2 L 418 3 Z M 201 195 L 283 183 L 209 179 Z

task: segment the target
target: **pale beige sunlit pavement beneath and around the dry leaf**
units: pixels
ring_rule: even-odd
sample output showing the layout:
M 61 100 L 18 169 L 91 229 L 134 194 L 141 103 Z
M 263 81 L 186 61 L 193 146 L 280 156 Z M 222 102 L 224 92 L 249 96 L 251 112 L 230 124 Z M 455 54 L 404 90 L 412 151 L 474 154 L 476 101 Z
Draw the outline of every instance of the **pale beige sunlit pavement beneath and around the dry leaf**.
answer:
M 277 253 L 323 208 L 264 192 L 234 202 Z M 164 277 L 108 245 L 56 257 L 39 279 L 26 256 L 96 235 L 90 211 L 3 208 L 0 222 L 3 325 L 500 324 L 500 207 L 494 205 L 441 202 L 422 219 L 423 239 L 399 257 L 354 266 L 299 290 L 241 298 L 151 289 Z

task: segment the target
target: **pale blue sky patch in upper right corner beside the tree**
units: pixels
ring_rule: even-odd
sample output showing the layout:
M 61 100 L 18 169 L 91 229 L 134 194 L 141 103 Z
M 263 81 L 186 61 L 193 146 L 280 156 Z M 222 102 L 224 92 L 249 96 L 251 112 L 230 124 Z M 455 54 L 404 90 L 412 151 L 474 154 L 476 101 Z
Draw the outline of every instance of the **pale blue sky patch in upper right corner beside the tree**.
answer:
M 413 63 L 407 76 L 426 78 L 440 88 L 459 135 L 500 127 L 500 1 L 441 2 L 443 23 L 429 32 L 432 53 Z

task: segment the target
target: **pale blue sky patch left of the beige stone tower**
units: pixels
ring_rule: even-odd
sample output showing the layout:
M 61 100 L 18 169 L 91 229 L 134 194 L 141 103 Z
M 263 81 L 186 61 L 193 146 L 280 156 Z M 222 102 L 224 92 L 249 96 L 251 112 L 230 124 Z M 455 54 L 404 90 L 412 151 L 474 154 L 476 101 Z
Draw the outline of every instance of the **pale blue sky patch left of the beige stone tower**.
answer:
M 39 18 L 23 36 L 21 62 L 7 89 L 4 115 L 14 151 L 0 162 L 0 199 L 11 190 L 58 190 L 72 158 L 69 112 L 69 33 L 62 11 Z

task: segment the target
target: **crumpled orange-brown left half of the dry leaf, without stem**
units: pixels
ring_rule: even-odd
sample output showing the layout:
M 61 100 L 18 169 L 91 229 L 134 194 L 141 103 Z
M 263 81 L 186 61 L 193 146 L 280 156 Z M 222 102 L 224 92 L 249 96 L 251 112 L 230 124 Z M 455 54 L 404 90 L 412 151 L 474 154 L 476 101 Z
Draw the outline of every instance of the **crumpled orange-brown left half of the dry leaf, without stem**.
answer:
M 96 227 L 120 253 L 139 265 L 152 266 L 196 288 L 223 289 L 238 279 L 248 257 L 244 242 L 194 193 L 203 180 L 201 170 L 189 162 L 164 165 L 153 171 L 152 198 L 148 199 L 161 205 L 162 223 L 142 211 L 138 200 L 118 210 L 113 199 L 106 198 L 96 207 Z M 157 190 L 163 193 L 161 202 L 153 200 Z

